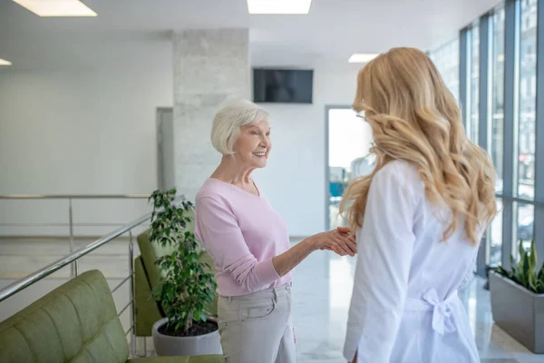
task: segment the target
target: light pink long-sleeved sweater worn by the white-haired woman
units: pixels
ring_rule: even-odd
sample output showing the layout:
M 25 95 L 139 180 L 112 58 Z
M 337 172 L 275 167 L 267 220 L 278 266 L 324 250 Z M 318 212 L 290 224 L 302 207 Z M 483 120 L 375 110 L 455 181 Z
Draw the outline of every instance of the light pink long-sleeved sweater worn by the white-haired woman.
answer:
M 195 234 L 215 268 L 221 296 L 240 296 L 285 285 L 272 258 L 289 249 L 287 223 L 259 196 L 218 179 L 208 179 L 196 198 Z

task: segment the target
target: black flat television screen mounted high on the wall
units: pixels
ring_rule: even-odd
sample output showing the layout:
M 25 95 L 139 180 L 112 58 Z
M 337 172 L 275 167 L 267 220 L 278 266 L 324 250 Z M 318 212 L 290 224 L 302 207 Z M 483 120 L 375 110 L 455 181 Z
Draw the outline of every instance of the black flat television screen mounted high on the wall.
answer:
M 314 71 L 253 70 L 253 102 L 312 103 Z

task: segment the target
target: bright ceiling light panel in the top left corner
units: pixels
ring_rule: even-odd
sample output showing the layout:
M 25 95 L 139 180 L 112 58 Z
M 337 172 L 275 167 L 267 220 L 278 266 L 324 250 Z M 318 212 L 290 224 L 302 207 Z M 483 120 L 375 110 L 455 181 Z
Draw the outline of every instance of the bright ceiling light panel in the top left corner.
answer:
M 14 0 L 38 16 L 96 16 L 79 0 Z

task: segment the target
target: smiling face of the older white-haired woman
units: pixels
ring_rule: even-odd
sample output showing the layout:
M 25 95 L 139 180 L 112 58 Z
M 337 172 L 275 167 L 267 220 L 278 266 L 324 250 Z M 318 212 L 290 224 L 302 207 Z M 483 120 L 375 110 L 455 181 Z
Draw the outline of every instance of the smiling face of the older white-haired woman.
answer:
M 242 126 L 234 144 L 236 160 L 251 169 L 267 166 L 271 148 L 270 125 L 266 121 Z

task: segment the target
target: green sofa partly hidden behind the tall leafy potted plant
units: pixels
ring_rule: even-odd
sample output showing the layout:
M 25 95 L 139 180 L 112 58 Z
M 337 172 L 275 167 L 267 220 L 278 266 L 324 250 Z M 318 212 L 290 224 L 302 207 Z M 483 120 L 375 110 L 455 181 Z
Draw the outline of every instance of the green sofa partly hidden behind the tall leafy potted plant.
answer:
M 194 231 L 192 224 L 187 226 L 189 231 Z M 144 231 L 138 236 L 138 246 L 141 255 L 134 260 L 134 299 L 136 308 L 135 333 L 138 337 L 151 337 L 153 324 L 164 318 L 160 304 L 151 298 L 151 291 L 159 286 L 160 270 L 155 261 L 172 250 L 169 247 L 160 247 L 157 243 L 150 243 L 149 231 Z M 213 268 L 213 260 L 205 250 L 200 250 L 199 260 L 208 264 L 208 272 L 216 274 Z M 208 307 L 212 317 L 218 315 L 218 296 Z

